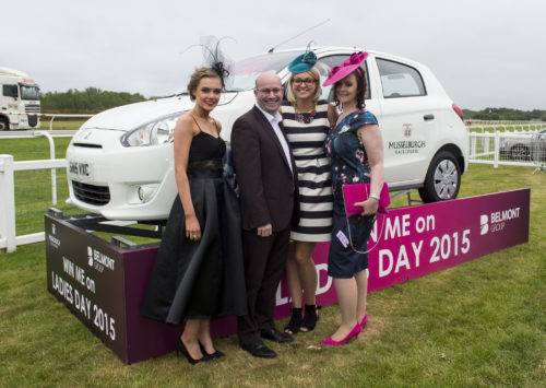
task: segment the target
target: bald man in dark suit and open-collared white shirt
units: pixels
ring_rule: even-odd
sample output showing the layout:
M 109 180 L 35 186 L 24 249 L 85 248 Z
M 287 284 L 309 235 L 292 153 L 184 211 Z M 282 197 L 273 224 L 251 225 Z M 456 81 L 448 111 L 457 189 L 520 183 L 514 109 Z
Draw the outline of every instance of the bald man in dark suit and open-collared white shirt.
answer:
M 275 329 L 275 292 L 288 251 L 297 172 L 283 131 L 278 107 L 281 79 L 265 72 L 256 80 L 256 106 L 232 130 L 232 152 L 240 190 L 248 315 L 238 318 L 242 349 L 257 357 L 276 353 L 261 340 L 286 343 L 293 337 Z

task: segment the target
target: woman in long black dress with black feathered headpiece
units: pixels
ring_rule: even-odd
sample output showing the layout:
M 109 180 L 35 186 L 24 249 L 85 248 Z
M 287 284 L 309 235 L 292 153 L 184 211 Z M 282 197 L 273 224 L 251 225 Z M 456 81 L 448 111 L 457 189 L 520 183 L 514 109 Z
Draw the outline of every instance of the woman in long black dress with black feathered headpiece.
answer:
M 170 324 L 186 319 L 175 345 L 191 364 L 223 355 L 212 342 L 211 317 L 246 314 L 238 201 L 223 177 L 222 126 L 210 116 L 223 75 L 200 68 L 188 84 L 195 106 L 180 116 L 174 132 L 178 196 L 141 308 Z

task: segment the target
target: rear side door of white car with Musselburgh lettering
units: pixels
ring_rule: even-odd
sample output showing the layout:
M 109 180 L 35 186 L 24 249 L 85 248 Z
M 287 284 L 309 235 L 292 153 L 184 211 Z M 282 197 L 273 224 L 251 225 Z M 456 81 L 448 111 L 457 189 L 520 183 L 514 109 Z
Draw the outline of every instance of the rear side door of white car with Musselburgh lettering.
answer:
M 379 84 L 379 126 L 383 133 L 385 180 L 403 188 L 423 183 L 429 165 L 427 138 L 437 118 L 417 68 L 375 57 Z

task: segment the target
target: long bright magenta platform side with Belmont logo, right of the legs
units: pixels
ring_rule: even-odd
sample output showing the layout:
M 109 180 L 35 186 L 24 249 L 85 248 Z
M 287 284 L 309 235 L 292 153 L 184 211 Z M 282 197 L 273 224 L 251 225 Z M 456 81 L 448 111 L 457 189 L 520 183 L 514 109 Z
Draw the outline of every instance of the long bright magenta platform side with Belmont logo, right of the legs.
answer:
M 380 238 L 368 254 L 368 291 L 526 243 L 530 197 L 530 189 L 520 189 L 389 210 L 384 224 L 383 215 L 379 216 L 368 243 L 369 249 Z M 317 299 L 323 306 L 337 302 L 327 274 L 329 246 L 319 244 L 313 252 L 319 274 Z M 276 317 L 287 316 L 289 293 L 285 279 L 276 303 Z

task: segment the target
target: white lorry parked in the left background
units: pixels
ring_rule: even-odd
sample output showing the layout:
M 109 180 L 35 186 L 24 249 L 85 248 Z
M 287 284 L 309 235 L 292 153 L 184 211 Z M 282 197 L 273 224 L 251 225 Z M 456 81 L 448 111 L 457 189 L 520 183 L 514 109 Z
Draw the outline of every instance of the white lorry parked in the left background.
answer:
M 27 74 L 0 68 L 0 130 L 39 128 L 39 86 Z

